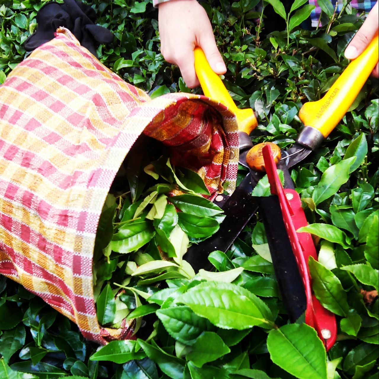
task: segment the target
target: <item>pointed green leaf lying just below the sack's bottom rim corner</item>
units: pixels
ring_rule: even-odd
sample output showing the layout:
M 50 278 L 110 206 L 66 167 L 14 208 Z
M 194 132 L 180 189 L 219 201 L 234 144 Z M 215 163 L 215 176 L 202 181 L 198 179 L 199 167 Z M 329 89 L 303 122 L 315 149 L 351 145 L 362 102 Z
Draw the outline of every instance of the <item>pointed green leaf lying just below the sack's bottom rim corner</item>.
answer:
M 107 360 L 114 363 L 125 363 L 132 359 L 143 359 L 143 351 L 135 351 L 136 341 L 110 341 L 89 357 L 89 360 Z

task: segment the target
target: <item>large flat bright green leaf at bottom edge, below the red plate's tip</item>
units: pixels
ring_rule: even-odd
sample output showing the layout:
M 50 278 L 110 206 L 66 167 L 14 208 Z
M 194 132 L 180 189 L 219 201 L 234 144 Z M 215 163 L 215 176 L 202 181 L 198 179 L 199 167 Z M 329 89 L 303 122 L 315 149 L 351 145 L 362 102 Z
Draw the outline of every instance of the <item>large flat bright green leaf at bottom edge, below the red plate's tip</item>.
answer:
M 326 379 L 325 348 L 312 327 L 289 324 L 273 329 L 267 348 L 271 360 L 297 378 Z

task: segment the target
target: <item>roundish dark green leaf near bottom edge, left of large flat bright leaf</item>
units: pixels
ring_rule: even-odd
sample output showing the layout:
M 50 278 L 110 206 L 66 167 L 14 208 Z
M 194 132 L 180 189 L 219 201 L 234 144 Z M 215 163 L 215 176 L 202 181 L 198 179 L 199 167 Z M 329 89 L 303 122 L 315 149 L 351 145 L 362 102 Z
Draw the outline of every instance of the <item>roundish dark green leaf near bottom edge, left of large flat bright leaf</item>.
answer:
M 219 335 L 214 332 L 203 332 L 197 337 L 186 359 L 192 361 L 195 366 L 202 367 L 204 363 L 212 362 L 229 352 L 230 349 Z

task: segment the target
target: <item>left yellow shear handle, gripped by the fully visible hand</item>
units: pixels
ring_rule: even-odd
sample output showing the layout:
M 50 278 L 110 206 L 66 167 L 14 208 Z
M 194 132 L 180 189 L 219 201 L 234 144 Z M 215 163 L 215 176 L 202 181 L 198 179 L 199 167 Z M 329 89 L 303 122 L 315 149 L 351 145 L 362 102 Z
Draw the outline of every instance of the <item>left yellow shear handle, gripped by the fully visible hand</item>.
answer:
M 224 83 L 222 83 L 220 77 L 211 69 L 203 50 L 200 49 L 200 47 L 196 47 L 194 54 L 195 71 L 204 95 L 227 106 L 237 117 L 238 129 L 241 132 L 250 134 L 258 125 L 254 111 L 251 108 L 237 108 L 225 88 Z

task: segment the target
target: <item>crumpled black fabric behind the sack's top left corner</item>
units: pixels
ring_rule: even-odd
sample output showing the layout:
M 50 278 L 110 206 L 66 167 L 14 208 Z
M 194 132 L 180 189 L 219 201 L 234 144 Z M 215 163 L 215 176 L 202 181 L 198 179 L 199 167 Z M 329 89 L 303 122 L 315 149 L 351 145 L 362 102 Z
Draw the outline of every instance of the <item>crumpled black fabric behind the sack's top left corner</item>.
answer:
M 58 27 L 69 29 L 80 44 L 96 56 L 99 44 L 113 41 L 113 34 L 106 28 L 95 25 L 96 12 L 90 6 L 76 0 L 64 0 L 63 4 L 47 3 L 37 13 L 38 27 L 24 43 L 26 51 L 54 38 Z

